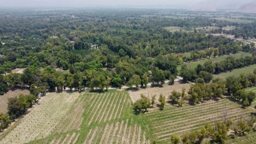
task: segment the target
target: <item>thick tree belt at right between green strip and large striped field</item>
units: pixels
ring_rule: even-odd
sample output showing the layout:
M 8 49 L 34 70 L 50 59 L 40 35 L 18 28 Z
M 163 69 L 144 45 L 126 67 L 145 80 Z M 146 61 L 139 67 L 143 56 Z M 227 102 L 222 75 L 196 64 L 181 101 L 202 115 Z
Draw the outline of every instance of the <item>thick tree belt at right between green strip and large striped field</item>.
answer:
M 254 92 L 245 92 L 244 88 L 256 85 L 256 74 L 241 74 L 238 77 L 229 76 L 225 80 L 213 79 L 211 83 L 205 83 L 203 80 L 197 79 L 195 85 L 192 85 L 188 91 L 189 100 L 196 104 L 203 100 L 210 100 L 211 98 L 222 98 L 222 95 L 242 101 L 244 106 L 249 106 L 256 98 Z M 181 95 L 173 92 L 172 95 Z M 175 97 L 171 97 L 175 101 Z

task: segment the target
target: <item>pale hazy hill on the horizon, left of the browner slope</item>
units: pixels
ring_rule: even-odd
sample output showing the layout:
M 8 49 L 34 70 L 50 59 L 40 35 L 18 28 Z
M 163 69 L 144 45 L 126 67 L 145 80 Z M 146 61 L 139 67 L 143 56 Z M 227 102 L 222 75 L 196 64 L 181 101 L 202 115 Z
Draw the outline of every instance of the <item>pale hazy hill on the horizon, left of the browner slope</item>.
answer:
M 237 10 L 241 5 L 252 2 L 252 0 L 206 0 L 196 5 L 193 10 L 214 11 L 217 9 Z

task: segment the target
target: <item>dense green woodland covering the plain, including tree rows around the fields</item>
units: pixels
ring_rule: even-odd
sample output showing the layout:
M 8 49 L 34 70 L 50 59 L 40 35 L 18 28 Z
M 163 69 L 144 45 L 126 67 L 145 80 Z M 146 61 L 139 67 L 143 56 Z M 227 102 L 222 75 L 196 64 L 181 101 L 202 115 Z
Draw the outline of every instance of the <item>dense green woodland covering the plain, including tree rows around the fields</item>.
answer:
M 212 75 L 255 64 L 253 43 L 243 44 L 196 30 L 169 32 L 164 27 L 193 29 L 214 25 L 220 29 L 212 32 L 218 33 L 222 27 L 234 25 L 235 29 L 224 33 L 247 39 L 256 36 L 255 23 L 238 24 L 203 16 L 175 19 L 157 15 L 164 12 L 157 9 L 80 9 L 1 13 L 0 94 L 10 89 L 27 88 L 32 95 L 9 100 L 9 116 L 0 115 L 0 119 L 5 119 L 0 129 L 10 123 L 7 117 L 15 119 L 23 115 L 36 101 L 34 95 L 46 91 L 70 89 L 80 92 L 86 88 L 103 91 L 123 85 L 146 88 L 149 82 L 152 86 L 162 86 L 165 80 L 170 80 L 172 85 L 179 72 L 184 82 L 196 83 L 189 89 L 189 97 L 173 92 L 170 96 L 173 104 L 182 106 L 185 99 L 197 104 L 228 95 L 242 100 L 244 106 L 251 105 L 255 93 L 243 92 L 243 88 L 256 85 L 255 73 L 231 76 L 226 80 L 212 80 Z M 238 59 L 229 56 L 222 62 L 199 64 L 195 69 L 188 68 L 185 63 L 240 51 L 252 55 Z M 190 56 L 184 56 L 185 52 Z M 181 71 L 177 70 L 178 65 L 182 65 Z M 16 68 L 26 69 L 22 74 L 11 73 Z M 135 111 L 147 111 L 155 101 L 142 95 L 134 104 Z M 159 101 L 164 109 L 165 98 L 160 97 Z M 222 124 L 219 125 L 217 127 Z

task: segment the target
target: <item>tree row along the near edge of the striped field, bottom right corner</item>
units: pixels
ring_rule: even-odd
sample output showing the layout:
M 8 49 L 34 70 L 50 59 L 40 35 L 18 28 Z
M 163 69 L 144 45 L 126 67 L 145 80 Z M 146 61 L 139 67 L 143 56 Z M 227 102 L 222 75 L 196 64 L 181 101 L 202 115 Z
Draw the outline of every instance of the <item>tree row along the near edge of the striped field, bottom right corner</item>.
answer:
M 234 130 L 234 134 L 237 136 L 243 136 L 246 132 L 255 129 L 255 122 L 255 117 L 251 117 L 249 119 L 241 118 L 237 121 L 237 123 L 234 123 L 229 119 L 227 119 L 225 122 L 217 122 L 214 125 L 207 123 L 200 130 L 193 130 L 190 133 L 184 134 L 182 137 L 172 134 L 171 143 L 202 143 L 202 141 L 206 138 L 211 139 L 212 142 L 225 143 L 225 141 L 228 139 L 229 130 Z

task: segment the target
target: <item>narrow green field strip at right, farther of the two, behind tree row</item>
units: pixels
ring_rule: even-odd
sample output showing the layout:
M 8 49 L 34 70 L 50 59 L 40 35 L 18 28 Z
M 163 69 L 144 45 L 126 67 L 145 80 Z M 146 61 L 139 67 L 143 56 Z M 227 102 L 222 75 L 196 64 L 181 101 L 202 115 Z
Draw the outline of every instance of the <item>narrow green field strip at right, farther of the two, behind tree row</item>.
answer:
M 198 64 L 204 64 L 207 61 L 220 62 L 220 61 L 224 61 L 225 58 L 229 57 L 229 56 L 233 56 L 235 58 L 240 58 L 240 57 L 246 57 L 246 56 L 251 56 L 251 55 L 252 54 L 248 53 L 248 52 L 239 52 L 239 53 L 236 53 L 236 54 L 233 54 L 233 55 L 220 56 L 220 57 L 217 57 L 217 58 L 211 57 L 210 59 L 206 58 L 206 59 L 202 59 L 200 61 L 188 62 L 188 63 L 185 63 L 185 64 L 187 64 L 189 68 L 194 69 L 194 68 L 197 67 Z M 190 56 L 190 54 L 187 54 L 186 56 Z M 182 65 L 178 65 L 177 69 L 181 70 L 181 67 L 182 67 Z

